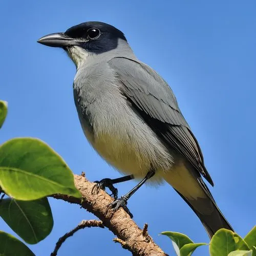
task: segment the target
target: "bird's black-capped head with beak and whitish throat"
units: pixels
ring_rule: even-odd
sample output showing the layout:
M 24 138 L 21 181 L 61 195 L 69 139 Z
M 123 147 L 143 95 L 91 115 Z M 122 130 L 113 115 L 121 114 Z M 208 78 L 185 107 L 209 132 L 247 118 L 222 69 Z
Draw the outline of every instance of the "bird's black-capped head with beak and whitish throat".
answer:
M 78 67 L 90 54 L 115 50 L 120 45 L 128 47 L 124 34 L 102 22 L 86 22 L 69 28 L 66 32 L 41 37 L 42 45 L 63 48 Z

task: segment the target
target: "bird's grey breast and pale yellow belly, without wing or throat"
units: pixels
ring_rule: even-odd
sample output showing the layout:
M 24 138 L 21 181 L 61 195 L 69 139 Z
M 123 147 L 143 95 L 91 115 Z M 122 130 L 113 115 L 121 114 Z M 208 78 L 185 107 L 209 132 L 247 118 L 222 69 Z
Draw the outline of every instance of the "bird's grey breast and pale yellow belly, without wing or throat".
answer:
M 169 163 L 150 127 L 121 94 L 114 74 L 78 77 L 74 83 L 74 98 L 88 141 L 118 170 L 141 177 L 152 164 L 157 167 L 162 159 Z

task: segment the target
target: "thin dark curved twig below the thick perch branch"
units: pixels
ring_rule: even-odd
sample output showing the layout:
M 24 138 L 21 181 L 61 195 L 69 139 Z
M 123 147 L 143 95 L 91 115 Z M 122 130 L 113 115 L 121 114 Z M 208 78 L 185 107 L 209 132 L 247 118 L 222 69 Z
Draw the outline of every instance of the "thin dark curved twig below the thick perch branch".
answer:
M 54 248 L 54 251 L 51 253 L 51 256 L 56 256 L 58 249 L 60 246 L 66 241 L 67 238 L 72 237 L 73 234 L 78 231 L 79 229 L 85 228 L 85 227 L 101 227 L 104 228 L 104 225 L 102 221 L 96 221 L 96 220 L 89 220 L 89 221 L 81 221 L 74 229 L 67 232 L 63 237 L 59 238 L 58 242 L 56 243 L 56 246 Z

